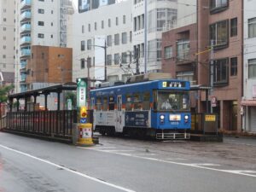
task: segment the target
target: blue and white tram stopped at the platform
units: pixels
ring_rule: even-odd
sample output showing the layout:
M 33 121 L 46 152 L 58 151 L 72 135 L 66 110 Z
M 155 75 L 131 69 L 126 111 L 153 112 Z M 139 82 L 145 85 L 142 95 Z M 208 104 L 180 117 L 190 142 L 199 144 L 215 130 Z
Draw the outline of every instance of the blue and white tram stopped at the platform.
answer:
M 188 81 L 152 80 L 90 90 L 93 127 L 157 139 L 187 139 L 191 127 Z

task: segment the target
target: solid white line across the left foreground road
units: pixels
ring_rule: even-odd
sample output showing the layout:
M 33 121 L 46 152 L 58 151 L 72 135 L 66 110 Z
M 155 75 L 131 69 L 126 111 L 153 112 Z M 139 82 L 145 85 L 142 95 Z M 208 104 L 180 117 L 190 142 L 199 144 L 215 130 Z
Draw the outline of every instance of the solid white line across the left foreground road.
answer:
M 98 179 L 98 178 L 96 178 L 96 177 L 90 177 L 89 175 L 86 175 L 86 174 L 84 174 L 84 173 L 82 173 L 82 172 L 73 171 L 73 170 L 71 170 L 71 169 L 69 169 L 69 168 L 67 168 L 67 167 L 65 167 L 65 166 L 60 166 L 60 165 L 57 165 L 57 164 L 55 164 L 55 163 L 53 163 L 53 162 L 50 162 L 49 160 L 43 160 L 43 159 L 40 159 L 40 158 L 38 158 L 38 157 L 36 157 L 36 156 L 32 156 L 31 154 L 26 154 L 26 153 L 24 153 L 24 152 L 21 152 L 21 151 L 19 151 L 19 150 L 13 149 L 13 148 L 9 148 L 9 147 L 3 146 L 3 145 L 1 145 L 1 144 L 0 144 L 0 147 L 1 147 L 1 148 L 4 148 L 4 149 L 7 149 L 7 150 L 9 150 L 9 151 L 15 152 L 15 153 L 17 153 L 17 154 L 22 154 L 22 155 L 24 155 L 24 156 L 26 156 L 26 157 L 30 157 L 30 158 L 32 158 L 32 159 L 34 159 L 34 160 L 38 160 L 38 161 L 44 162 L 44 163 L 46 163 L 46 164 L 49 164 L 50 166 L 55 166 L 55 167 L 57 167 L 57 168 L 61 168 L 61 169 L 65 170 L 65 171 L 67 171 L 67 172 L 72 172 L 72 173 L 74 173 L 74 174 L 76 174 L 76 175 L 79 175 L 79 176 L 81 176 L 81 177 L 88 178 L 88 179 L 90 179 L 90 180 L 92 180 L 92 181 L 95 181 L 95 182 L 97 182 L 97 183 L 106 184 L 106 185 L 108 185 L 108 186 L 110 186 L 110 187 L 113 187 L 113 188 L 115 188 L 115 189 L 120 189 L 120 190 L 127 191 L 127 192 L 135 192 L 134 190 L 126 189 L 126 188 L 121 187 L 121 186 L 119 186 L 119 185 L 115 185 L 115 184 L 113 184 L 113 183 L 108 183 L 108 182 L 102 181 L 102 180 L 100 180 L 100 179 Z

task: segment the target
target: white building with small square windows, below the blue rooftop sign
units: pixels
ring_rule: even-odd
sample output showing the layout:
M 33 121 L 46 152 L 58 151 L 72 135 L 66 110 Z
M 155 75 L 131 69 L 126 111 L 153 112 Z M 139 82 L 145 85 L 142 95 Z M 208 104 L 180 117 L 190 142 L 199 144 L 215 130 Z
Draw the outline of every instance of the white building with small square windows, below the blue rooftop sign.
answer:
M 105 65 L 108 81 L 127 79 L 135 68 L 131 63 L 131 1 L 83 2 L 79 0 L 73 15 L 73 81 L 105 79 Z

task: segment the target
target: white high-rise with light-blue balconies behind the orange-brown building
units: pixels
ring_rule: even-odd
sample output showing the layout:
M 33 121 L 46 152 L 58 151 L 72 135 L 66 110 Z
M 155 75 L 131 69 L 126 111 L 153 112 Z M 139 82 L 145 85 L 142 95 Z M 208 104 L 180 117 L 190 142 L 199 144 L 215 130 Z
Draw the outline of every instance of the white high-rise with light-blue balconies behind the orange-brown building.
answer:
M 16 91 L 22 92 L 32 89 L 26 81 L 32 45 L 66 47 L 67 23 L 73 9 L 68 0 L 21 0 L 16 1 L 15 8 L 15 84 Z

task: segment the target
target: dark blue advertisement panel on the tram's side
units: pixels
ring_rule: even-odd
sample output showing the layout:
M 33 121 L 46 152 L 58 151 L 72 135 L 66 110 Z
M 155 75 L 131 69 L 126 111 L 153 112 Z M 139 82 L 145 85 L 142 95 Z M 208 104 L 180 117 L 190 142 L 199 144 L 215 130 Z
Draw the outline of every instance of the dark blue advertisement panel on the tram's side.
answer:
M 125 112 L 125 126 L 148 127 L 148 111 Z

